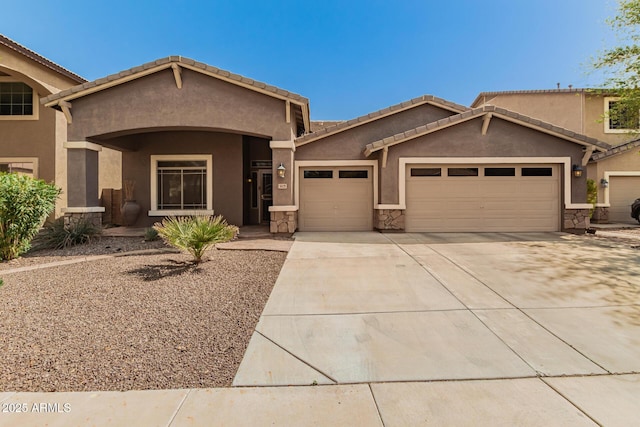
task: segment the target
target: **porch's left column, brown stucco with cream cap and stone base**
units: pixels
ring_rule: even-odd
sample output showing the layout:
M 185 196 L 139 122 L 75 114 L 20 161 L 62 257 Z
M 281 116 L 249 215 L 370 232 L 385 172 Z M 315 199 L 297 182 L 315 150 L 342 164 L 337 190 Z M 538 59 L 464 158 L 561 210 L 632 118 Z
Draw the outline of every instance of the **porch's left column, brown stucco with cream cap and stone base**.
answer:
M 87 141 L 68 141 L 67 150 L 67 208 L 63 209 L 65 223 L 80 219 L 102 225 L 98 198 L 98 153 L 102 147 Z

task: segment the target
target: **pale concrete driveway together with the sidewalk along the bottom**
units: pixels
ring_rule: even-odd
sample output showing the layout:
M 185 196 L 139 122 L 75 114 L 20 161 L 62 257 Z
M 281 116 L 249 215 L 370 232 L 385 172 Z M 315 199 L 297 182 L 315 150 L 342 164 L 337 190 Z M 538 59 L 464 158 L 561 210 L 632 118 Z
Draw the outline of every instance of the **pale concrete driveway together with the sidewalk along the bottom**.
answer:
M 0 426 L 635 425 L 638 373 L 631 245 L 298 233 L 235 388 L 0 393 Z

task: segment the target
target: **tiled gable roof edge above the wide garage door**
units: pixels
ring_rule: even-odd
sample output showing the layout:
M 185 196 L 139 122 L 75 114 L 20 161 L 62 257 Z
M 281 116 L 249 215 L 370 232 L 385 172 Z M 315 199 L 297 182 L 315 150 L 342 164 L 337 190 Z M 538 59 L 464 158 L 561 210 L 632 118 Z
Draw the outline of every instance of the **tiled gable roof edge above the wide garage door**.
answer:
M 369 156 L 374 151 L 378 151 L 385 147 L 396 145 L 410 139 L 418 138 L 420 136 L 427 135 L 429 133 L 447 128 L 449 126 L 452 126 L 458 123 L 465 122 L 470 119 L 481 117 L 487 113 L 491 113 L 502 119 L 519 122 L 526 126 L 538 129 L 542 132 L 552 133 L 560 137 L 564 137 L 565 139 L 572 140 L 574 142 L 579 142 L 585 145 L 594 145 L 596 147 L 599 147 L 603 151 L 611 148 L 611 145 L 602 141 L 598 141 L 595 138 L 590 138 L 588 136 L 575 133 L 573 131 L 567 130 L 565 128 L 561 128 L 559 126 L 552 125 L 550 123 L 543 122 L 538 119 L 524 116 L 514 111 L 507 110 L 505 108 L 495 107 L 493 105 L 486 105 L 483 107 L 474 108 L 473 110 L 465 111 L 460 114 L 456 114 L 454 116 L 445 117 L 444 119 L 440 119 L 436 122 L 419 126 L 415 129 L 410 129 L 406 132 L 402 132 L 384 139 L 380 139 L 378 141 L 374 141 L 370 144 L 367 144 L 365 148 L 365 155 Z

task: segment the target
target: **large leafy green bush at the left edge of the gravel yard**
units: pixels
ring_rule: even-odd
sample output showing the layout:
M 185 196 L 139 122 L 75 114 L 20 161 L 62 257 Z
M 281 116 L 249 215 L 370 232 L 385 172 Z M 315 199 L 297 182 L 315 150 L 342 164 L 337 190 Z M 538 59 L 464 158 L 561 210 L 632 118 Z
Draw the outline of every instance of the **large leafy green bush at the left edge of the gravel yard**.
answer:
M 0 173 L 0 259 L 14 259 L 29 250 L 59 194 L 59 188 L 43 180 Z

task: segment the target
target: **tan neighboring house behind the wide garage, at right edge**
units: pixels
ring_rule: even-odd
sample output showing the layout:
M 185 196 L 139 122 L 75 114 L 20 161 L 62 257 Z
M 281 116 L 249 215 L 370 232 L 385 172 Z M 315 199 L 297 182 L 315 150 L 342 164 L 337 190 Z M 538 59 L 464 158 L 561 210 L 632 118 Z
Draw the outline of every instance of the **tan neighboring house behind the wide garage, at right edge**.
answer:
M 638 129 L 608 117 L 616 101 L 612 94 L 594 89 L 523 90 L 482 92 L 472 107 L 512 109 L 611 144 L 606 153 L 594 153 L 587 167 L 587 177 L 598 185 L 593 221 L 634 222 L 630 206 L 640 198 Z

